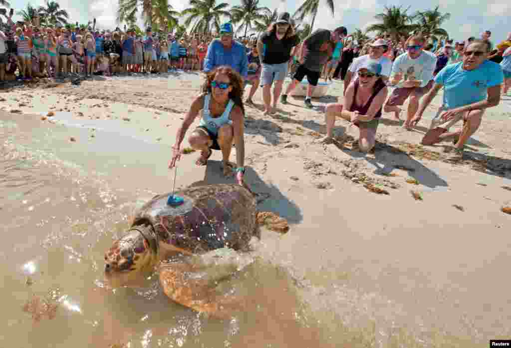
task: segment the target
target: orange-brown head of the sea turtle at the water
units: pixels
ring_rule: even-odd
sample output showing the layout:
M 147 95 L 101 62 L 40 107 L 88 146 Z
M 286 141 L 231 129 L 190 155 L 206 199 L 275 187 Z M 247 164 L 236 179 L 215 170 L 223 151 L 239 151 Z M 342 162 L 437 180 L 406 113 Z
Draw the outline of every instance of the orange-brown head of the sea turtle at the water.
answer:
M 158 241 L 151 226 L 131 227 L 105 252 L 105 280 L 129 286 L 145 279 L 158 262 Z

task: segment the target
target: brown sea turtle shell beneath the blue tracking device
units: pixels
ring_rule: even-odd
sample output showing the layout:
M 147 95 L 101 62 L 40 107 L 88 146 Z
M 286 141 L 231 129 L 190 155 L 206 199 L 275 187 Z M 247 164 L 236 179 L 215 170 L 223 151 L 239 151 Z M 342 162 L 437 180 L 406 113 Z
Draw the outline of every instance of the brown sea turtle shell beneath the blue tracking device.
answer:
M 159 240 L 194 253 L 243 249 L 254 235 L 257 201 L 241 185 L 187 188 L 175 193 L 184 199 L 178 206 L 167 204 L 171 195 L 158 195 L 144 204 L 132 225 L 149 223 Z

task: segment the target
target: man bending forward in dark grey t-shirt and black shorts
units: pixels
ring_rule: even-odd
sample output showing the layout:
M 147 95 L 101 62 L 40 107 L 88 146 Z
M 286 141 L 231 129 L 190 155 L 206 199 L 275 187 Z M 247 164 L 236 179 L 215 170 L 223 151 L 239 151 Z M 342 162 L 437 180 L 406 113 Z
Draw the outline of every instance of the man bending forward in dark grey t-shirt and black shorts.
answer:
M 318 29 L 304 40 L 299 54 L 298 69 L 293 76 L 293 81 L 287 87 L 286 93 L 282 95 L 281 102 L 287 103 L 287 95 L 293 91 L 298 83 L 307 76 L 309 87 L 305 97 L 305 105 L 312 108 L 311 96 L 314 87 L 317 86 L 319 76 L 323 70 L 323 64 L 332 56 L 336 43 L 346 36 L 347 31 L 344 27 L 339 27 L 334 31 Z

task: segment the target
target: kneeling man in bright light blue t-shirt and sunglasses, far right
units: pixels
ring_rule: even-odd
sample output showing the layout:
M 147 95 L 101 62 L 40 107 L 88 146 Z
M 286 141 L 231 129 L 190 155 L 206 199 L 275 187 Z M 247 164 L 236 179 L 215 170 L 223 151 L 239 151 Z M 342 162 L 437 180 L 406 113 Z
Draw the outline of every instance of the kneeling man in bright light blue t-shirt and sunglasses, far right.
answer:
M 463 52 L 463 61 L 447 65 L 436 75 L 435 85 L 411 122 L 413 126 L 419 122 L 437 92 L 445 87 L 443 105 L 424 135 L 423 145 L 454 138 L 455 151 L 451 159 L 457 159 L 463 155 L 464 144 L 481 125 L 486 108 L 499 105 L 504 75 L 499 64 L 487 60 L 489 53 L 487 40 L 474 40 Z M 461 130 L 448 131 L 461 120 Z

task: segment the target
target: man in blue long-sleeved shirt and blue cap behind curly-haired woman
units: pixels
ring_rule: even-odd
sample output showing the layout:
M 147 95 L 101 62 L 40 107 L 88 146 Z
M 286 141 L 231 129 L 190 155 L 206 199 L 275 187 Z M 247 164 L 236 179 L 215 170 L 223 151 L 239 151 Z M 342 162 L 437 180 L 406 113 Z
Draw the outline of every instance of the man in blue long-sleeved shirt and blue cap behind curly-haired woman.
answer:
M 213 40 L 207 48 L 204 58 L 204 72 L 212 71 L 217 66 L 227 65 L 247 77 L 248 59 L 245 46 L 233 40 L 233 25 L 225 23 L 220 27 L 220 39 Z

